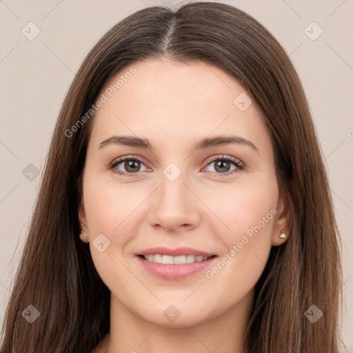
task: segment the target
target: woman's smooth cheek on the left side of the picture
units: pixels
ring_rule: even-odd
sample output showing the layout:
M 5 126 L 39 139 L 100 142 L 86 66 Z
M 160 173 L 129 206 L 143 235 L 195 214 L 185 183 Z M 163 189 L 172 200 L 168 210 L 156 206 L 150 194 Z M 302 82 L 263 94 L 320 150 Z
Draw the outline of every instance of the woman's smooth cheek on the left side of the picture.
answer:
M 119 185 L 107 181 L 98 174 L 88 173 L 84 179 L 83 198 L 85 216 L 90 236 L 90 252 L 94 267 L 105 285 L 114 292 L 114 285 L 134 283 L 136 279 L 126 270 L 125 256 L 131 256 L 128 244 L 137 234 L 143 212 L 143 201 L 148 198 L 148 188 L 139 188 L 134 183 Z M 139 219 L 137 219 L 139 217 Z M 104 236 L 101 236 L 103 234 Z M 99 236 L 101 238 L 99 238 Z M 96 239 L 99 241 L 96 241 Z M 106 242 L 102 246 L 97 245 Z M 97 244 L 98 243 L 98 244 Z

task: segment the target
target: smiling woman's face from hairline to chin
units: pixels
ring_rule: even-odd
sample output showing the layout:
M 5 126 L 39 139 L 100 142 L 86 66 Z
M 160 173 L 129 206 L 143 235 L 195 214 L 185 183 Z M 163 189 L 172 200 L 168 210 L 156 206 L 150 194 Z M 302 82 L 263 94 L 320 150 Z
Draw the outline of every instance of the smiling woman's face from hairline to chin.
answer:
M 79 209 L 112 303 L 175 326 L 250 305 L 271 246 L 288 233 L 250 94 L 213 65 L 165 59 L 114 74 L 99 99 Z

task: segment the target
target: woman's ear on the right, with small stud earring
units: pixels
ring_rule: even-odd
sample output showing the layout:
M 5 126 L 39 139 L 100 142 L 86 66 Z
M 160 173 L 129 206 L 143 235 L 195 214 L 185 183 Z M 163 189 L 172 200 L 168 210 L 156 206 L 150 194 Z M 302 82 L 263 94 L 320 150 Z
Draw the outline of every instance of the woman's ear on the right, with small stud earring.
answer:
M 272 234 L 273 246 L 282 245 L 287 241 L 290 236 L 290 230 L 292 229 L 292 201 L 288 190 L 282 190 L 276 210 L 277 214 L 274 221 L 274 233 Z M 285 238 L 279 237 L 282 231 L 285 233 Z

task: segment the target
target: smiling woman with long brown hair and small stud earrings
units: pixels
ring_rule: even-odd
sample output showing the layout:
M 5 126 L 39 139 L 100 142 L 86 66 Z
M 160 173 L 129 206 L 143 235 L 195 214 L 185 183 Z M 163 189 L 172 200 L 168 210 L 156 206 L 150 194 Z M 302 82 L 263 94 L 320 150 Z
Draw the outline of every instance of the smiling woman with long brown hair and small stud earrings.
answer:
M 340 298 L 323 159 L 278 41 L 211 2 L 109 30 L 59 114 L 1 352 L 338 353 Z

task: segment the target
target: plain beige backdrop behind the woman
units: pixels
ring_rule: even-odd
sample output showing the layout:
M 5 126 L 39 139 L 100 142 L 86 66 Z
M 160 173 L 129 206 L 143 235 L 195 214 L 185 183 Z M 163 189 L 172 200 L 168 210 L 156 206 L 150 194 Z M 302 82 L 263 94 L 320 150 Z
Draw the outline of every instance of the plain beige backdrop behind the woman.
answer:
M 280 41 L 301 77 L 341 230 L 347 298 L 343 341 L 353 351 L 353 335 L 348 334 L 353 332 L 353 1 L 217 2 L 230 3 L 258 19 Z M 0 1 L 1 321 L 54 123 L 74 73 L 114 23 L 146 6 L 167 3 L 175 2 Z M 40 30 L 32 41 L 21 32 L 30 21 Z M 304 32 L 312 21 L 323 30 L 314 41 Z M 39 169 L 32 181 L 22 174 L 30 163 Z

